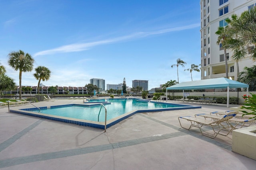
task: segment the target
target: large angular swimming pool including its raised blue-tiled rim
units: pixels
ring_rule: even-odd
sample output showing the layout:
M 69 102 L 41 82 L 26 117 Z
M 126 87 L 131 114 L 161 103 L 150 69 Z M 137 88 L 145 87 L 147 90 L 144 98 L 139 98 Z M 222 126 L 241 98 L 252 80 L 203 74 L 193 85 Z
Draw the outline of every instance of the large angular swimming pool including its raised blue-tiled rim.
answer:
M 107 109 L 107 128 L 136 113 L 201 108 L 200 106 L 152 102 L 138 99 L 108 99 L 107 102 L 102 103 Z M 85 102 L 84 104 L 40 107 L 40 113 L 38 113 L 38 108 L 36 107 L 10 110 L 10 112 L 104 129 L 105 109 L 102 108 L 100 111 L 100 107 L 101 105 L 97 101 L 95 103 Z

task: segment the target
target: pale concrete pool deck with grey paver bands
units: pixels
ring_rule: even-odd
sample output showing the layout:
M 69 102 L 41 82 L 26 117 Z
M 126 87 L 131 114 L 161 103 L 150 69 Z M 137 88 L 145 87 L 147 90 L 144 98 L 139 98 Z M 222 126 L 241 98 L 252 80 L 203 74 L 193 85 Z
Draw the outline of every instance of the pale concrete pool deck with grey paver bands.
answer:
M 55 106 L 80 99 L 38 102 Z M 180 127 L 178 116 L 230 110 L 225 105 L 173 102 L 201 109 L 137 113 L 108 128 L 82 127 L 0 109 L 1 170 L 255 170 L 256 160 L 232 152 L 232 133 L 215 139 Z M 230 107 L 236 107 L 231 105 Z M 11 108 L 27 108 L 31 105 Z M 186 122 L 185 124 L 186 125 Z M 187 126 L 189 126 L 187 122 Z

